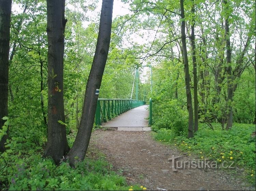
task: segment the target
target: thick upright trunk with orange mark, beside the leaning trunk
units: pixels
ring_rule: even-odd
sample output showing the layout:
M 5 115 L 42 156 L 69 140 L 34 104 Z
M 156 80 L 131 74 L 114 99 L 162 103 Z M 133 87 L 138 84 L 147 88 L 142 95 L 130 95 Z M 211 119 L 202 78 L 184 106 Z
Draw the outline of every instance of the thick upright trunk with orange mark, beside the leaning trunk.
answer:
M 63 101 L 65 0 L 47 0 L 48 131 L 44 157 L 55 163 L 69 151 Z

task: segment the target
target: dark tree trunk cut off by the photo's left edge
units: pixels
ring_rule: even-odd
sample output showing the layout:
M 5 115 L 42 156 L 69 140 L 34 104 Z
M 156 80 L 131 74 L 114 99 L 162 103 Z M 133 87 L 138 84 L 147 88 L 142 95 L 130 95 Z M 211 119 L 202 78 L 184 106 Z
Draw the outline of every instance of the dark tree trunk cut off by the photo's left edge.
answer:
M 4 124 L 2 119 L 8 116 L 8 74 L 9 74 L 9 50 L 10 50 L 10 23 L 12 1 L 0 0 L 0 129 Z M 5 151 L 4 143 L 6 135 L 0 140 L 0 152 Z

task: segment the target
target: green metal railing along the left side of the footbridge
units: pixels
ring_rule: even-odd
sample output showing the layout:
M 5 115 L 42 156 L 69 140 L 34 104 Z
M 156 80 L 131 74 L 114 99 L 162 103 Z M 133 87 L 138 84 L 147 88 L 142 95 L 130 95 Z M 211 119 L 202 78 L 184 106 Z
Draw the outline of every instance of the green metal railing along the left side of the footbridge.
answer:
M 98 99 L 95 124 L 101 125 L 112 118 L 123 114 L 124 112 L 145 105 L 146 102 L 131 99 Z

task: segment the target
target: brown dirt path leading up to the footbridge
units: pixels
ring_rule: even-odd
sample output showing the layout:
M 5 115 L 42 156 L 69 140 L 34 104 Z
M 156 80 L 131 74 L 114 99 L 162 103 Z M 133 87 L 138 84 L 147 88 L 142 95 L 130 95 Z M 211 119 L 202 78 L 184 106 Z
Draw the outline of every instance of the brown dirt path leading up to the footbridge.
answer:
M 140 184 L 147 190 L 255 190 L 242 178 L 222 170 L 185 168 L 173 172 L 168 158 L 184 153 L 156 142 L 150 132 L 97 130 L 89 147 L 103 152 L 115 171 L 127 177 L 131 185 Z M 185 155 L 177 161 L 191 161 L 196 157 Z M 242 170 L 236 169 L 238 174 Z

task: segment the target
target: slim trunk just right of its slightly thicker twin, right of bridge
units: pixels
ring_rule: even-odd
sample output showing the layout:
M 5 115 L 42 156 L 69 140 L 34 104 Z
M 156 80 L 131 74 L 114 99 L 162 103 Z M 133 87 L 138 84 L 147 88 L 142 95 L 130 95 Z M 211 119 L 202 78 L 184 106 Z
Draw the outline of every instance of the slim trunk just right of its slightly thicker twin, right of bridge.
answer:
M 195 14 L 195 4 L 192 0 L 191 12 Z M 195 19 L 192 19 L 191 25 L 191 45 L 192 45 L 192 60 L 193 60 L 193 74 L 194 74 L 194 131 L 198 130 L 198 100 L 197 100 L 197 60 L 196 60 L 196 45 L 195 45 Z

